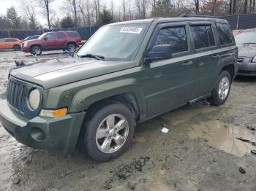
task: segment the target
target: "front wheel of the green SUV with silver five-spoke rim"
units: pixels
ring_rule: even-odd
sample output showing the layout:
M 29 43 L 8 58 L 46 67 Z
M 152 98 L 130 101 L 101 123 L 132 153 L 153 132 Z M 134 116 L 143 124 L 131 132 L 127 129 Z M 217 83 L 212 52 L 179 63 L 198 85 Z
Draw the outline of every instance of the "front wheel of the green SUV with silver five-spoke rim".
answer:
M 97 161 L 118 157 L 129 146 L 135 118 L 127 106 L 110 103 L 89 112 L 80 134 L 80 147 Z

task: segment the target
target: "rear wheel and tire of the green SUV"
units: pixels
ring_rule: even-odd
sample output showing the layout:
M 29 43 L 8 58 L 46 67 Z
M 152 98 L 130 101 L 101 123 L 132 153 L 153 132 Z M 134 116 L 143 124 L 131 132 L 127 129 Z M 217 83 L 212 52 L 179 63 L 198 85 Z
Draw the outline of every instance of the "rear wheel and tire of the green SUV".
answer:
M 217 83 L 211 93 L 210 103 L 219 106 L 225 103 L 230 94 L 231 77 L 228 71 L 222 71 L 219 74 Z

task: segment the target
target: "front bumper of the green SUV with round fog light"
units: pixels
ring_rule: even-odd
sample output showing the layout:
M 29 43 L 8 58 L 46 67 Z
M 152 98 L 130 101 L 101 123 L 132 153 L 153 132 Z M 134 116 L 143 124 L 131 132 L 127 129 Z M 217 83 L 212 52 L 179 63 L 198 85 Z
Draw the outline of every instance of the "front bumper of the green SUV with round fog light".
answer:
M 29 147 L 61 152 L 72 152 L 78 141 L 84 112 L 63 117 L 34 117 L 27 119 L 12 111 L 6 93 L 0 95 L 0 121 L 17 141 Z

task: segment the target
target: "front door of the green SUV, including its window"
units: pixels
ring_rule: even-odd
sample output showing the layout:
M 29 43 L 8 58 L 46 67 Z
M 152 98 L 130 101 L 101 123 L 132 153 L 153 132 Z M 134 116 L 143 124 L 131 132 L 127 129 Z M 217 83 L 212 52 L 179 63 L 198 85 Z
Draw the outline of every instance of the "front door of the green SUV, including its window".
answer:
M 146 80 L 144 94 L 147 117 L 152 117 L 186 104 L 193 89 L 193 62 L 190 53 L 187 23 L 170 23 L 157 26 L 148 50 L 159 44 L 172 46 L 171 58 L 144 64 Z

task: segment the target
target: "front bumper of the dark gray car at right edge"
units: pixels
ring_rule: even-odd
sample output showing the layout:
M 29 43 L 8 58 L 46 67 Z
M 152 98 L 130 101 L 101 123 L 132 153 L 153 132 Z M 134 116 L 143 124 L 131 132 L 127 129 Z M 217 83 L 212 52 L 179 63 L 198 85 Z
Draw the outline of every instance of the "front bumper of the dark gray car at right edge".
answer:
M 239 63 L 238 76 L 255 77 L 256 63 L 252 63 L 252 58 L 244 58 L 244 61 Z

